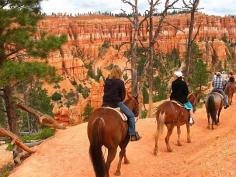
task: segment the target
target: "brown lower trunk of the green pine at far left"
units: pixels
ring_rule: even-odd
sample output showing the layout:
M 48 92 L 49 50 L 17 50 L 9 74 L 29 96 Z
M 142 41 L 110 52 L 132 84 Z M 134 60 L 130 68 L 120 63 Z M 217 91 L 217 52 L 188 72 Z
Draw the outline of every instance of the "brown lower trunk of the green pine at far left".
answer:
M 9 129 L 14 134 L 18 134 L 18 127 L 17 127 L 18 118 L 16 116 L 16 106 L 13 100 L 13 90 L 11 87 L 5 87 L 3 88 L 3 92 L 4 92 L 3 97 L 6 105 Z

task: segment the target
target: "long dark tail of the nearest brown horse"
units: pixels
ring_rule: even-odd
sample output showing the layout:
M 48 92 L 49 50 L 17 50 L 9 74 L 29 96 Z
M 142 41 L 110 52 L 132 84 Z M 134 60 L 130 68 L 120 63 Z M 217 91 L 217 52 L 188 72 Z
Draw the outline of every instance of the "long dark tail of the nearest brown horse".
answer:
M 93 164 L 96 177 L 105 177 L 105 160 L 102 153 L 102 133 L 104 119 L 97 118 L 93 124 L 92 140 L 90 142 L 89 154 Z

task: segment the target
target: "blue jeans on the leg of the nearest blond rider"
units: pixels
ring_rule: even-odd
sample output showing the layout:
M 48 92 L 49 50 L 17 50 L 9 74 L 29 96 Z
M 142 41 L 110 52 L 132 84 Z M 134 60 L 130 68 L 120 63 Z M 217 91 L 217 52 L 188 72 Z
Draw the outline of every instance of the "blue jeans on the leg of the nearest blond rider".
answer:
M 135 116 L 134 113 L 123 103 L 119 102 L 117 104 L 120 110 L 128 117 L 128 133 L 129 135 L 135 135 Z

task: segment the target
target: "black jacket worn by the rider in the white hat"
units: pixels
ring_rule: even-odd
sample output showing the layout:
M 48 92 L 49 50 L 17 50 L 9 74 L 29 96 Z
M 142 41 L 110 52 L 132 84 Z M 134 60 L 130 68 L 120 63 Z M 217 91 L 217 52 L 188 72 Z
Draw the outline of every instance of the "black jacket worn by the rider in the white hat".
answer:
M 182 78 L 178 78 L 172 82 L 171 85 L 172 93 L 170 95 L 171 100 L 178 101 L 182 104 L 188 102 L 188 86 Z

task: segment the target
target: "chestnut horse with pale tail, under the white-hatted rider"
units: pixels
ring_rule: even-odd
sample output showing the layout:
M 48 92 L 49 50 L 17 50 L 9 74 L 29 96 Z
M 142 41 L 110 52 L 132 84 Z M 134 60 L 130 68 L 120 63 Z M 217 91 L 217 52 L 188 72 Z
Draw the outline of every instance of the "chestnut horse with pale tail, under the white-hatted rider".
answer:
M 192 103 L 195 111 L 195 106 L 197 103 L 197 99 L 193 94 L 190 94 L 188 96 L 189 101 Z M 154 147 L 154 155 L 157 155 L 158 151 L 158 139 L 159 139 L 159 134 L 162 133 L 163 126 L 164 124 L 167 127 L 167 135 L 165 138 L 166 142 L 166 147 L 167 151 L 171 152 L 172 149 L 169 144 L 169 139 L 172 134 L 172 131 L 175 126 L 177 126 L 177 133 L 178 133 L 178 141 L 177 144 L 178 146 L 181 146 L 180 143 L 180 126 L 186 124 L 187 127 L 187 142 L 190 143 L 190 124 L 189 124 L 189 111 L 186 110 L 182 105 L 173 102 L 173 101 L 166 101 L 162 103 L 160 106 L 157 108 L 156 112 L 156 120 L 157 120 L 157 131 L 155 134 L 155 147 Z

